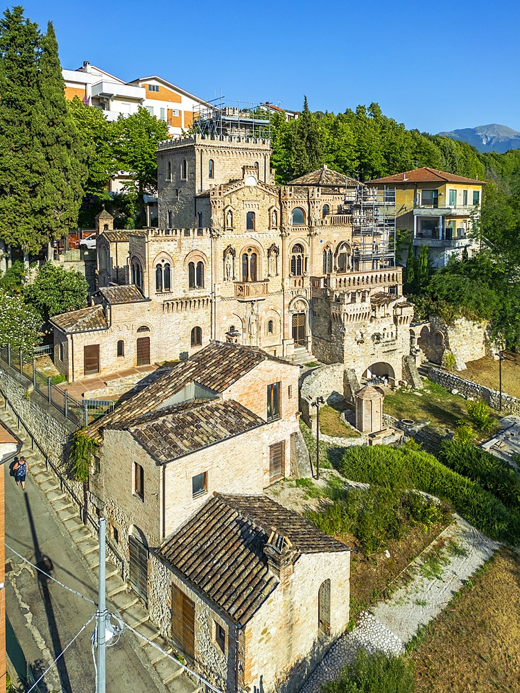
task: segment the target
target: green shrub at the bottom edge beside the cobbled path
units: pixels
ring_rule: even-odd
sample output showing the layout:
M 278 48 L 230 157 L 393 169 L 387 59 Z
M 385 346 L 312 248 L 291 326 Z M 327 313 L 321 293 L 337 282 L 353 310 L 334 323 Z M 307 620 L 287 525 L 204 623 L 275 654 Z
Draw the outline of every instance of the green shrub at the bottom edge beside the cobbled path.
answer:
M 343 669 L 336 681 L 323 686 L 326 693 L 413 693 L 413 663 L 383 652 L 368 654 L 360 649 L 356 659 Z

